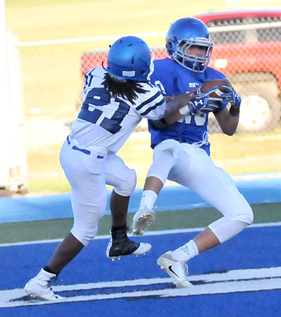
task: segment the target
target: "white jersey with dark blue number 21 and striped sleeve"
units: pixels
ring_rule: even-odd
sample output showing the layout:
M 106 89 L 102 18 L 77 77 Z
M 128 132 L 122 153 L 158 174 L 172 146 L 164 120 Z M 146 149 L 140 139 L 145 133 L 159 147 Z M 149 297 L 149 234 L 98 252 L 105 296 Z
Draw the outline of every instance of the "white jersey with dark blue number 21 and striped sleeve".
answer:
M 85 100 L 71 137 L 83 147 L 103 147 L 116 153 L 142 118 L 163 118 L 166 101 L 148 82 L 139 83 L 147 92 L 138 93 L 135 104 L 121 97 L 112 98 L 102 84 L 105 74 L 102 67 L 85 73 Z

